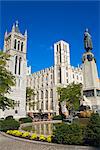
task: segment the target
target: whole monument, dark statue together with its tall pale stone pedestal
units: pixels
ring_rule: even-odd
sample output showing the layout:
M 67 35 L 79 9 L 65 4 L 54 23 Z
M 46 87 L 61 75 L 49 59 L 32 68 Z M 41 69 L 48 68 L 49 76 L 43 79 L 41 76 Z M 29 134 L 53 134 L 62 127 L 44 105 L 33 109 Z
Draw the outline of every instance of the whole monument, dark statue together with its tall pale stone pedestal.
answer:
M 91 109 L 98 111 L 100 110 L 100 81 L 98 78 L 96 60 L 94 54 L 91 52 L 93 46 L 88 29 L 86 29 L 84 33 L 84 48 L 86 52 L 82 57 L 83 104 L 89 105 Z

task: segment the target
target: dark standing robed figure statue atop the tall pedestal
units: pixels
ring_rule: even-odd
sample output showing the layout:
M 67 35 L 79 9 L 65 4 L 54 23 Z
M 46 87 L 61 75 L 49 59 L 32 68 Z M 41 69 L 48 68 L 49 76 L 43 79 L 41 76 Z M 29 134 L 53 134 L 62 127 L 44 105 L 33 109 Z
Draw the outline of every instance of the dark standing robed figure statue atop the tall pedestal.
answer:
M 84 48 L 87 52 L 93 49 L 92 39 L 91 35 L 88 32 L 88 29 L 86 29 L 84 33 Z

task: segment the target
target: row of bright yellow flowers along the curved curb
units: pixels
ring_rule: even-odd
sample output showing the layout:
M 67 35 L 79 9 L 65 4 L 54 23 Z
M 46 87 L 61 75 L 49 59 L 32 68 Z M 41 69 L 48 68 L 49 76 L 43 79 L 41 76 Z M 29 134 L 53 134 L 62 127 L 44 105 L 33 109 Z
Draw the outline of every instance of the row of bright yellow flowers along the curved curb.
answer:
M 49 143 L 52 141 L 51 135 L 49 135 L 47 137 L 44 135 L 38 136 L 36 133 L 31 134 L 30 132 L 22 132 L 19 130 L 8 130 L 6 133 L 9 135 L 26 138 L 29 140 L 45 141 L 45 142 L 49 142 Z

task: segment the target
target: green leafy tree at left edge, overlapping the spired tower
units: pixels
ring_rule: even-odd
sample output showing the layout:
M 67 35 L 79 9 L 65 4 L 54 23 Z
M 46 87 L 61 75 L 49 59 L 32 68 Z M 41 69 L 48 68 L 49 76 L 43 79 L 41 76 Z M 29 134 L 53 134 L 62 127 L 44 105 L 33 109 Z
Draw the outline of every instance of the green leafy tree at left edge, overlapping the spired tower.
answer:
M 6 68 L 9 60 L 10 55 L 0 51 L 0 109 L 2 110 L 14 107 L 14 101 L 6 96 L 15 85 L 15 77 Z

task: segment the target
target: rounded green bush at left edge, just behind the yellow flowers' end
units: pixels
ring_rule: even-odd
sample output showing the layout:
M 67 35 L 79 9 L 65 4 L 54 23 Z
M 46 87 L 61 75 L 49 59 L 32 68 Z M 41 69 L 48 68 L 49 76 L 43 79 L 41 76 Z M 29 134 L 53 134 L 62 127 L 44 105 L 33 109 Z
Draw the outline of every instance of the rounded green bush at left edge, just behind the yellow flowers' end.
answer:
M 7 130 L 17 130 L 20 123 L 14 119 L 3 120 L 0 124 L 0 130 L 6 132 Z

